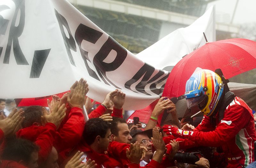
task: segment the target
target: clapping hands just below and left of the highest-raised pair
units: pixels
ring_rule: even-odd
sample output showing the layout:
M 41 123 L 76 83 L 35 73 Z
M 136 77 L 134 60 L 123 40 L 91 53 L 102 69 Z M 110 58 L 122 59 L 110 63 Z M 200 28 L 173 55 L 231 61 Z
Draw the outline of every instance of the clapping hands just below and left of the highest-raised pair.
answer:
M 66 110 L 65 104 L 62 104 L 59 107 L 59 101 L 53 104 L 53 110 L 50 114 L 48 114 L 47 110 L 43 108 L 43 116 L 41 117 L 42 123 L 47 123 L 51 122 L 53 123 L 56 128 L 58 129 L 60 126 L 61 121 L 65 118 L 66 116 Z

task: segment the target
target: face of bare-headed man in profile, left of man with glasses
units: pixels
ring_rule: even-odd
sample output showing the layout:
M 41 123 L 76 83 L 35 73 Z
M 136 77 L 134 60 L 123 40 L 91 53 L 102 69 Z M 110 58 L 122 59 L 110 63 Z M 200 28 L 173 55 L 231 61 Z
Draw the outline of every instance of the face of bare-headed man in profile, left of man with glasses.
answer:
M 130 130 L 127 123 L 117 124 L 118 136 L 116 136 L 116 141 L 120 143 L 131 143 L 132 136 L 130 135 Z

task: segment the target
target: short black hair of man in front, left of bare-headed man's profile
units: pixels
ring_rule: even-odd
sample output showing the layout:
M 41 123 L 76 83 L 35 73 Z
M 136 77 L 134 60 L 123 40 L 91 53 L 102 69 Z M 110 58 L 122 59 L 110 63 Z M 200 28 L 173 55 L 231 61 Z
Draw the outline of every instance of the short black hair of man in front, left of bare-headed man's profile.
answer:
M 91 145 L 96 136 L 104 138 L 109 129 L 109 123 L 103 121 L 101 118 L 89 119 L 84 126 L 83 137 L 88 145 Z

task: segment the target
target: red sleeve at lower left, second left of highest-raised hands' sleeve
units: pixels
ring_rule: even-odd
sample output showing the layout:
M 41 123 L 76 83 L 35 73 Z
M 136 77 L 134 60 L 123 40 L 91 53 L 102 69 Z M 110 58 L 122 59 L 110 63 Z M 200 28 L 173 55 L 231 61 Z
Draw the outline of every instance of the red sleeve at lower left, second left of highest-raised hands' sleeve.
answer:
M 49 156 L 56 134 L 56 126 L 53 123 L 46 123 L 41 134 L 36 138 L 35 143 L 40 147 L 38 152 L 38 162 L 44 163 Z

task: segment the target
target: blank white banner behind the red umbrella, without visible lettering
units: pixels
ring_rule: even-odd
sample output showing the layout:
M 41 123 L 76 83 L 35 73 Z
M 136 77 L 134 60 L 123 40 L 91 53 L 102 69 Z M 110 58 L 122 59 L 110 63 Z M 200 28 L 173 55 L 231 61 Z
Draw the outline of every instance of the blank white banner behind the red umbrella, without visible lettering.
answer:
M 185 55 L 208 42 L 215 41 L 215 7 L 186 28 L 180 28 L 136 55 L 155 68 L 170 71 Z

